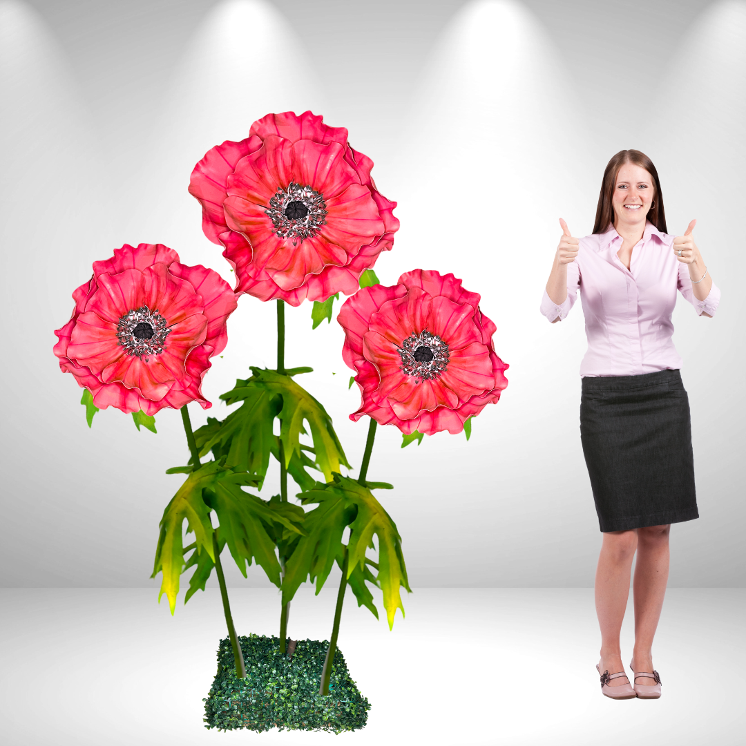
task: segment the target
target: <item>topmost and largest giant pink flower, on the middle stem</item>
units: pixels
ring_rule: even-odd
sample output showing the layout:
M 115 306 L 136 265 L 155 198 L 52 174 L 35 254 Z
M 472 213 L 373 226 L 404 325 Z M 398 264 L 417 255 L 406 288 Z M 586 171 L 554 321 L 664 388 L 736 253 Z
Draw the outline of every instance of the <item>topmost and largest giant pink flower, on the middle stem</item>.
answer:
M 204 234 L 225 246 L 236 292 L 292 306 L 355 292 L 399 228 L 372 167 L 345 128 L 310 111 L 268 114 L 245 140 L 207 151 L 189 192 L 202 205 Z

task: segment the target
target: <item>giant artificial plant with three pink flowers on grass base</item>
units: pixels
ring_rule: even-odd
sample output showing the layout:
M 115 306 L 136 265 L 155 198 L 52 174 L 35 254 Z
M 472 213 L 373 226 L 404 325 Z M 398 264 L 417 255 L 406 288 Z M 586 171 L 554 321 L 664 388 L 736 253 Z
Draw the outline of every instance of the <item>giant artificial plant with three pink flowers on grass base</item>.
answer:
M 345 591 L 378 618 L 371 589 L 379 589 L 389 629 L 396 609 L 404 615 L 401 587 L 411 592 L 401 536 L 374 495 L 392 485 L 368 479 L 377 425 L 398 427 L 402 448 L 443 430 L 468 439 L 471 419 L 507 386 L 508 366 L 495 353 L 496 327 L 480 295 L 435 270 L 379 282 L 372 267 L 392 249 L 399 222 L 372 166 L 349 145 L 345 128 L 308 111 L 268 114 L 245 140 L 207 151 L 189 183 L 202 230 L 224 248 L 236 286 L 213 269 L 184 265 L 162 244 L 125 244 L 93 263 L 93 276 L 73 292 L 69 322 L 55 331 L 54 354 L 84 389 L 89 427 L 107 407 L 153 433 L 157 413 L 181 412 L 189 457 L 166 470 L 184 482 L 163 511 L 151 577 L 162 575 L 158 598 L 166 594 L 173 615 L 181 575 L 193 568 L 186 604 L 216 571 L 228 637 L 204 700 L 207 728 L 341 733 L 365 726 L 370 705 L 336 648 Z M 286 307 L 313 302 L 315 329 L 331 322 L 340 293 L 350 296 L 336 317 L 345 332 L 342 357 L 362 396 L 350 417 L 369 417 L 357 477 L 325 408 L 298 383 L 311 369 L 285 366 Z M 251 367 L 220 396 L 231 412 L 193 430 L 187 405 L 212 406 L 202 380 L 226 348 L 228 317 L 242 295 L 275 301 L 277 366 Z M 271 460 L 279 489 L 265 499 L 257 493 L 266 489 Z M 300 490 L 297 503 L 289 480 Z M 278 636 L 236 633 L 226 547 L 244 577 L 256 562 L 280 589 Z M 290 640 L 295 592 L 310 580 L 318 595 L 335 563 L 342 577 L 329 640 Z M 302 618 L 294 624 L 302 629 Z

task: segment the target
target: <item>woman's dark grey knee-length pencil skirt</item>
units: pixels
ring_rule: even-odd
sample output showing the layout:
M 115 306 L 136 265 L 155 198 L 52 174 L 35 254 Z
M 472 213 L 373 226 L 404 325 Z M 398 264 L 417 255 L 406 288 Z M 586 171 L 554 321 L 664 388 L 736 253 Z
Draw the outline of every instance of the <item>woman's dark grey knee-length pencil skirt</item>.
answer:
M 580 439 L 601 531 L 699 518 L 689 398 L 678 370 L 584 377 Z

